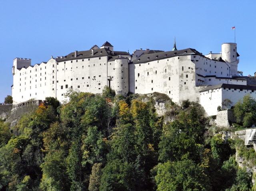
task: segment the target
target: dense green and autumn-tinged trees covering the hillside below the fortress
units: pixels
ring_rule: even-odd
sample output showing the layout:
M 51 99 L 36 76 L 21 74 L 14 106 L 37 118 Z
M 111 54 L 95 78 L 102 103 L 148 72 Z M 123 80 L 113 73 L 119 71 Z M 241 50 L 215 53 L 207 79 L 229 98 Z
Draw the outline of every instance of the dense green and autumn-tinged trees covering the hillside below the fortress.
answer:
M 0 122 L 2 191 L 252 190 L 235 141 L 209 136 L 199 104 L 169 100 L 159 117 L 154 100 L 108 88 L 67 96 L 62 106 L 47 98 L 14 128 Z

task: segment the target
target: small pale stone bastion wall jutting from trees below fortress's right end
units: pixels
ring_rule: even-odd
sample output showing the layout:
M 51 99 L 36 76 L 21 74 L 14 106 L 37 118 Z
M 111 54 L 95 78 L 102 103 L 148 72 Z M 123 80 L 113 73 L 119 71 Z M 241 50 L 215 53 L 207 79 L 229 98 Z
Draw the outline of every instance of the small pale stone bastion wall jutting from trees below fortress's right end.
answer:
M 232 110 L 222 110 L 217 112 L 217 126 L 230 127 L 232 122 L 236 122 Z

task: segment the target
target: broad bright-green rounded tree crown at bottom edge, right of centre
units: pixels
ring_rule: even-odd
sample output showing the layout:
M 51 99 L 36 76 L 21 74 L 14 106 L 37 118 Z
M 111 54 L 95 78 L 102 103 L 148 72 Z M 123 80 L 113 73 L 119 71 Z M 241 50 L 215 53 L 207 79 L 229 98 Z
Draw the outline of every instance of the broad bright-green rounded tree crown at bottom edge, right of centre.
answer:
M 159 163 L 156 166 L 157 191 L 211 191 L 209 179 L 193 161 Z

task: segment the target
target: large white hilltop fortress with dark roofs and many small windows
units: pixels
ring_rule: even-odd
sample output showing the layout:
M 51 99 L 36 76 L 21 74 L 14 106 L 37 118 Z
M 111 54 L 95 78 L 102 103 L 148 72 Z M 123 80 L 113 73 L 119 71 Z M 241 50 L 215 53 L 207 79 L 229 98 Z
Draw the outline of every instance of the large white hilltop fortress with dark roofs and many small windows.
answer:
M 172 51 L 138 49 L 132 54 L 115 51 L 106 41 L 86 51 L 52 57 L 34 66 L 31 59 L 13 60 L 14 104 L 48 96 L 65 101 L 68 89 L 102 93 L 109 86 L 117 94 L 164 93 L 172 101 L 199 102 L 216 115 L 225 99 L 235 104 L 246 94 L 256 98 L 256 77 L 238 76 L 236 43 L 223 43 L 220 53 L 208 55 L 188 48 Z

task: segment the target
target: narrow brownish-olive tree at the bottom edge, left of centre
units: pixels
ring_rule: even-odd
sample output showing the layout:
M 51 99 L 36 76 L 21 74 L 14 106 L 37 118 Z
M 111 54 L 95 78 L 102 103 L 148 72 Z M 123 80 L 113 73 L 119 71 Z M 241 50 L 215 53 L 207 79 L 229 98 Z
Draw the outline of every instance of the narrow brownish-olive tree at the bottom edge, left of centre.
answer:
M 92 174 L 90 174 L 89 191 L 100 190 L 100 177 L 102 175 L 102 163 L 94 163 L 92 166 Z

